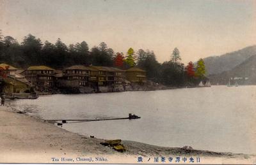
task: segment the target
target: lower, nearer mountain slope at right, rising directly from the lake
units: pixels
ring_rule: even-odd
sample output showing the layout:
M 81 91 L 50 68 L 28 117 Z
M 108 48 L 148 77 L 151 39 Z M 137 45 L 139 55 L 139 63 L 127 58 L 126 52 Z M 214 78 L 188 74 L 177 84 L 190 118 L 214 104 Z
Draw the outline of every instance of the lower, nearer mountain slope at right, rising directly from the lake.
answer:
M 219 83 L 220 85 L 226 85 L 229 81 L 233 85 L 235 83 L 239 85 L 256 85 L 256 54 L 246 59 L 231 71 L 209 75 L 209 78 L 212 84 Z

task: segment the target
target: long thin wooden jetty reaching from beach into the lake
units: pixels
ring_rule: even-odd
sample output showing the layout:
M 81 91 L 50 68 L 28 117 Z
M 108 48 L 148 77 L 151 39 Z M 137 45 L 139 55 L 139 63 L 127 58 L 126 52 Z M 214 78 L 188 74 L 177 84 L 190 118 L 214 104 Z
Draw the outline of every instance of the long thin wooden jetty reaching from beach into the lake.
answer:
M 62 122 L 62 123 L 67 123 L 67 122 L 94 122 L 94 121 L 102 121 L 102 120 L 124 120 L 124 119 L 137 119 L 141 118 L 138 117 L 137 115 L 134 115 L 132 113 L 129 113 L 129 117 L 121 117 L 121 118 L 95 118 L 95 119 L 51 119 L 51 120 L 44 120 L 45 122 Z

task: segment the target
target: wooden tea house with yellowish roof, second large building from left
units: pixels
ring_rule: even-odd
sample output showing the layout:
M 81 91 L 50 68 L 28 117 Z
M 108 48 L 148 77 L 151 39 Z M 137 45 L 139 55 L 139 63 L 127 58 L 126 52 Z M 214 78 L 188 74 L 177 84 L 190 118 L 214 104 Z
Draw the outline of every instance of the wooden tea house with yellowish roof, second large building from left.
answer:
M 54 69 L 48 66 L 30 66 L 22 72 L 40 92 L 49 92 L 54 87 Z

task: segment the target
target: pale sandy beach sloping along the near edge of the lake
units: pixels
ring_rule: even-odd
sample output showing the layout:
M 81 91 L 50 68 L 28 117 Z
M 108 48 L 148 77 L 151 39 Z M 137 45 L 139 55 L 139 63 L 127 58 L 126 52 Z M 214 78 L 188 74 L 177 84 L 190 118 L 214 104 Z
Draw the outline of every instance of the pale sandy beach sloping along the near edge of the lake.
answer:
M 144 158 L 142 163 L 154 163 L 154 157 L 161 156 L 166 157 L 166 162 L 171 156 L 173 159 L 176 156 L 180 159 L 200 157 L 200 163 L 203 164 L 212 162 L 255 164 L 256 162 L 255 155 L 157 147 L 135 141 L 122 141 L 127 151 L 120 153 L 100 145 L 102 141 L 104 140 L 70 133 L 41 119 L 15 113 L 8 107 L 0 107 L 0 163 L 54 163 L 56 161 L 52 161 L 52 158 L 61 161 L 61 157 L 68 161 L 56 163 L 138 163 L 138 157 Z M 86 161 L 77 161 L 77 157 Z M 93 162 L 90 162 L 90 157 Z M 105 161 L 102 161 L 103 159 L 97 161 L 95 157 L 103 157 Z

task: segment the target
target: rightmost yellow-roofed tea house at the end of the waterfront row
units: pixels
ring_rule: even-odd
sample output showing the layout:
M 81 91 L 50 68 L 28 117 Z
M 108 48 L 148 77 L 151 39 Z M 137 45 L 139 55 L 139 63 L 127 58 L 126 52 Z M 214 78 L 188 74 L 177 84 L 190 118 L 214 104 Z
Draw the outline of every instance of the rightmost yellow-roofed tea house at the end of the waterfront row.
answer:
M 126 78 L 132 83 L 144 83 L 147 82 L 146 71 L 133 67 L 125 71 Z

